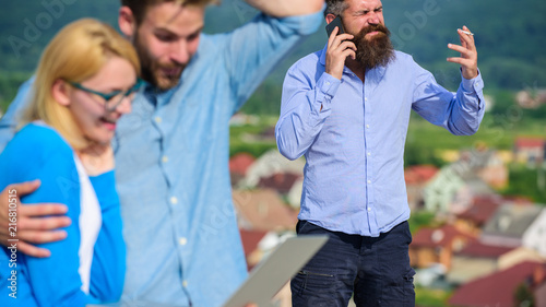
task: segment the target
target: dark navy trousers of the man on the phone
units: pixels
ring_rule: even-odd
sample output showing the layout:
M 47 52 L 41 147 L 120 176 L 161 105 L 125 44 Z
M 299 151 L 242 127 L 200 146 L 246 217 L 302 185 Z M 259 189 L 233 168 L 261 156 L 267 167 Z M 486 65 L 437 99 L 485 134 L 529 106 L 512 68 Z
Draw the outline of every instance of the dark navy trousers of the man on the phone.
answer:
M 415 306 L 407 222 L 377 238 L 330 232 L 306 221 L 298 222 L 296 232 L 330 238 L 292 280 L 294 307 L 347 307 L 353 294 L 358 307 Z

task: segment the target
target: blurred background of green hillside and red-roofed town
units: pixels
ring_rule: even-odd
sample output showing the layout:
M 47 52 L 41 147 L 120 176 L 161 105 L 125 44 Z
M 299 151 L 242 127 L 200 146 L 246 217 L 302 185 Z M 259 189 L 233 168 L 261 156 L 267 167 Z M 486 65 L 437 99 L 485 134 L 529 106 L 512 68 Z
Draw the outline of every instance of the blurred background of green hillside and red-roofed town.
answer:
M 413 115 L 405 149 L 412 208 L 410 256 L 418 306 L 546 306 L 546 1 L 383 0 L 396 49 L 456 91 L 456 28 L 475 33 L 487 111 L 475 135 L 453 137 Z M 0 114 L 33 74 L 57 31 L 83 16 L 117 27 L 119 1 L 2 1 Z M 206 33 L 256 14 L 241 0 L 209 9 Z M 325 24 L 325 23 L 324 23 Z M 280 155 L 274 139 L 288 67 L 325 43 L 321 27 L 300 44 L 230 122 L 229 169 L 251 269 L 294 236 L 305 160 Z M 289 305 L 289 288 L 277 295 Z

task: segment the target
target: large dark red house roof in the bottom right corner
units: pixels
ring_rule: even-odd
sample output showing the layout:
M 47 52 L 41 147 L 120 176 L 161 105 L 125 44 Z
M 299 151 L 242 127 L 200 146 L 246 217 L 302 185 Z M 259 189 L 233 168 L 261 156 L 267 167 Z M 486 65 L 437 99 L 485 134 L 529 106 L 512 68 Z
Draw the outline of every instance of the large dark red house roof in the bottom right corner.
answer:
M 512 307 L 513 293 L 518 285 L 532 279 L 541 264 L 522 262 L 505 271 L 471 281 L 459 287 L 449 299 L 450 306 L 497 306 Z

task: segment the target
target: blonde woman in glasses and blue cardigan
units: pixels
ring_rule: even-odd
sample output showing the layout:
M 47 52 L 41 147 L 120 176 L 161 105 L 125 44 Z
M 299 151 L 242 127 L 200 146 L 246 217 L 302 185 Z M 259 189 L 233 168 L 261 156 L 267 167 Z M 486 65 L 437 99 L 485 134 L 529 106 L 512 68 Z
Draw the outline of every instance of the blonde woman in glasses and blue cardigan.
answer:
M 131 110 L 139 71 L 131 44 L 95 20 L 67 25 L 46 47 L 21 130 L 0 155 L 0 189 L 38 178 L 22 202 L 66 203 L 72 224 L 67 239 L 44 245 L 50 258 L 17 253 L 16 241 L 2 249 L 0 306 L 119 300 L 126 249 L 110 140 Z

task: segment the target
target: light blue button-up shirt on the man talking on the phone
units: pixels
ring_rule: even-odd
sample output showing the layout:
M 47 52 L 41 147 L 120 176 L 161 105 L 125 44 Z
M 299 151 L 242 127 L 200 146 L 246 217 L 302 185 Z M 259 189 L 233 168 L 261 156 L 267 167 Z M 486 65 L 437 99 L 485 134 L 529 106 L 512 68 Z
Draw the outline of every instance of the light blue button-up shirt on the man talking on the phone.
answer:
M 389 66 L 366 71 L 364 83 L 346 67 L 340 81 L 324 72 L 325 54 L 288 70 L 277 146 L 307 160 L 300 220 L 377 237 L 410 217 L 403 158 L 411 110 L 453 134 L 473 134 L 485 110 L 482 76 L 463 78 L 451 93 L 396 51 Z

